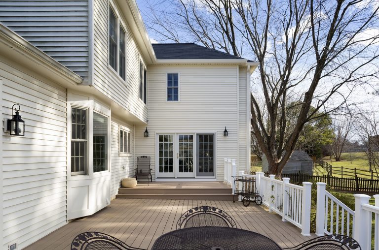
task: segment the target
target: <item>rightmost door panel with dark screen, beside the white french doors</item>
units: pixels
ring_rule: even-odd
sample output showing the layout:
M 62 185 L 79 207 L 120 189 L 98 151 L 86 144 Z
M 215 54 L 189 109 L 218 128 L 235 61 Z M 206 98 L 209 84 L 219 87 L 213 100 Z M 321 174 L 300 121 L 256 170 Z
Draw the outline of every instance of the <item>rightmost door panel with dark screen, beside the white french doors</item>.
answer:
M 214 176 L 214 134 L 197 135 L 197 176 Z

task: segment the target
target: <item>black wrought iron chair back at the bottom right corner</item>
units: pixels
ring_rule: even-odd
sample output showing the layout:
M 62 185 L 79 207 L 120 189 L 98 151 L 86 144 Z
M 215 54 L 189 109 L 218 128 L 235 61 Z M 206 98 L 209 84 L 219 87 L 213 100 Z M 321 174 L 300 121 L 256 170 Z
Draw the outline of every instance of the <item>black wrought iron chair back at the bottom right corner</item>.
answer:
M 286 250 L 361 250 L 358 242 L 345 235 L 332 234 L 317 237 Z

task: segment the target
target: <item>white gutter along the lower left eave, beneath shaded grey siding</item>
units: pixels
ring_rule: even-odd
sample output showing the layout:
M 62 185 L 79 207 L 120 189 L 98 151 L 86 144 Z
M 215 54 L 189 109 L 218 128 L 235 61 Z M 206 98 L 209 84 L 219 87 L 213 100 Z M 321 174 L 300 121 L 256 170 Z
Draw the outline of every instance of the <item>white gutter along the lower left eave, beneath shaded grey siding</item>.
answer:
M 53 73 L 67 78 L 71 84 L 76 85 L 83 81 L 83 79 L 76 73 L 46 55 L 17 33 L 9 30 L 9 28 L 2 23 L 0 23 L 0 38 L 4 44 L 9 46 L 9 49 L 22 54 L 35 63 L 43 64 L 44 67 L 48 68 Z

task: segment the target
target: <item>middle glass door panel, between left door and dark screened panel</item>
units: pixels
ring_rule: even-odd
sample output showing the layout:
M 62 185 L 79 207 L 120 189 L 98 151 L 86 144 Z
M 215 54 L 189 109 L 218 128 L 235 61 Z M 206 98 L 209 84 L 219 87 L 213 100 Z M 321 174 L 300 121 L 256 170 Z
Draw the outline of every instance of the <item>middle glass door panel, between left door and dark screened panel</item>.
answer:
M 179 134 L 178 139 L 178 177 L 194 177 L 193 135 Z

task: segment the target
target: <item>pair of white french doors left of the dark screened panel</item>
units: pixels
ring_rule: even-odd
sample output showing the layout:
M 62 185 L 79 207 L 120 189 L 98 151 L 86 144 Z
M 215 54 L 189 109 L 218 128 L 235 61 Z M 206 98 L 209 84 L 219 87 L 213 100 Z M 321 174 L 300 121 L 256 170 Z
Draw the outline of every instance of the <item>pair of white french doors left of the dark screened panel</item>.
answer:
M 158 134 L 157 177 L 195 177 L 194 134 Z

